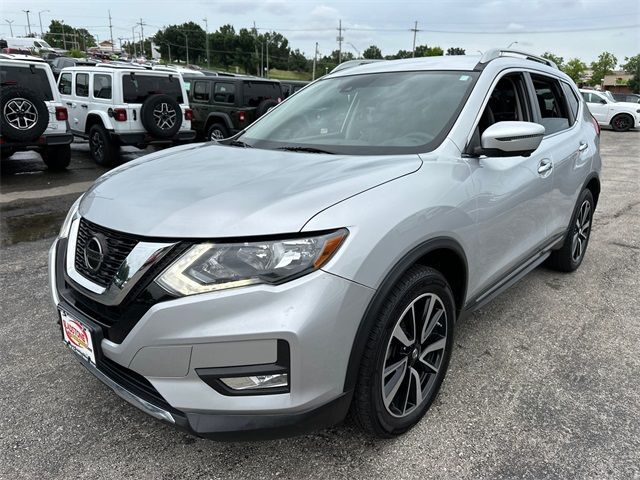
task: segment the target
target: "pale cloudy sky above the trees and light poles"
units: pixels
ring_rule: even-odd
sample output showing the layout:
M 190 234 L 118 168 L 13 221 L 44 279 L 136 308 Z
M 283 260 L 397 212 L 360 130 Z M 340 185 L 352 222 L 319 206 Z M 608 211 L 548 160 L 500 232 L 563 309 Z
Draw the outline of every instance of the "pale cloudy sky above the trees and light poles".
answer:
M 337 48 L 338 21 L 345 28 L 343 49 L 357 54 L 375 44 L 384 54 L 410 50 L 418 21 L 417 44 L 465 48 L 477 53 L 518 42 L 533 53 L 552 51 L 565 60 L 578 57 L 589 63 L 602 51 L 623 61 L 640 53 L 640 0 L 453 0 L 453 1 L 309 1 L 309 0 L 3 0 L 0 34 L 24 35 L 30 9 L 31 29 L 39 32 L 38 11 L 45 27 L 52 18 L 87 28 L 101 40 L 109 38 L 108 12 L 113 36 L 130 37 L 131 27 L 143 18 L 145 36 L 164 25 L 196 21 L 211 31 L 230 23 L 240 29 L 277 30 L 293 48 L 313 55 Z

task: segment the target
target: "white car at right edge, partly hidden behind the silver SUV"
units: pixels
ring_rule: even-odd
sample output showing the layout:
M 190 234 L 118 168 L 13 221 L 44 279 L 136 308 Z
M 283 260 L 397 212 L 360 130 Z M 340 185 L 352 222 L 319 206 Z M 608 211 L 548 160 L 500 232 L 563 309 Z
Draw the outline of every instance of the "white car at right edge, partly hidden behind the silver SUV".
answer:
M 638 104 L 618 102 L 611 92 L 581 89 L 580 93 L 600 125 L 611 126 L 616 132 L 640 127 Z

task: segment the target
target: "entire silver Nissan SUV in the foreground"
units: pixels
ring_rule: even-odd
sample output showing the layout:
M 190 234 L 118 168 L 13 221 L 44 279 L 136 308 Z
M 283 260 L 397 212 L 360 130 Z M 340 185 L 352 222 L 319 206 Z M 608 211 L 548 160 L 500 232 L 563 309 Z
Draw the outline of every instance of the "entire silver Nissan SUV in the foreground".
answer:
M 456 321 L 581 264 L 598 125 L 550 62 L 492 50 L 323 77 L 246 131 L 123 165 L 51 248 L 65 343 L 200 436 L 425 414 Z

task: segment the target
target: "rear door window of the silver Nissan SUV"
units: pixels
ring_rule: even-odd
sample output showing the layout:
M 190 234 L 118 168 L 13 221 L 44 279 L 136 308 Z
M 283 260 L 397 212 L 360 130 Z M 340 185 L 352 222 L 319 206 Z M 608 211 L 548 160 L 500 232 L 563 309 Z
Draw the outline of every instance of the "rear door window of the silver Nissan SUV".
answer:
M 571 125 L 567 100 L 560 82 L 544 75 L 531 75 L 545 135 L 561 132 Z

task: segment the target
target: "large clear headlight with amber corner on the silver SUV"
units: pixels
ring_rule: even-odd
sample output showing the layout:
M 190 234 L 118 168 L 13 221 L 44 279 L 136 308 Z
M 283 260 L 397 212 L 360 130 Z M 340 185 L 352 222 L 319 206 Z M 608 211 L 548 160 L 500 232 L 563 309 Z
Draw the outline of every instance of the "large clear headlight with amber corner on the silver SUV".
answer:
M 347 234 L 347 229 L 340 229 L 288 240 L 201 243 L 187 250 L 156 281 L 177 295 L 282 283 L 322 267 Z

